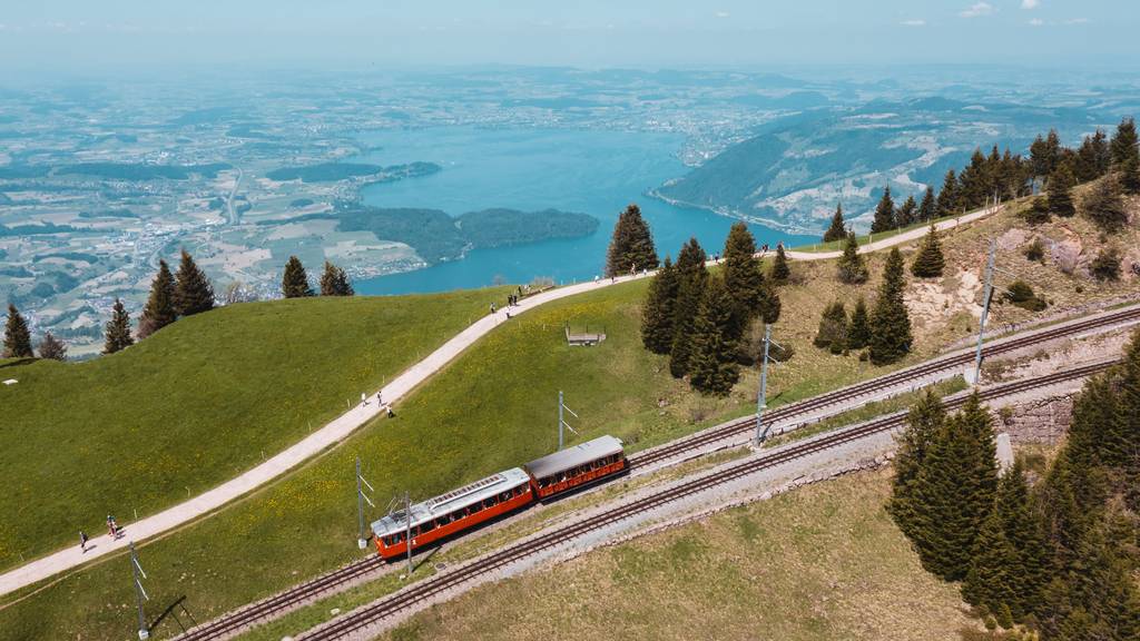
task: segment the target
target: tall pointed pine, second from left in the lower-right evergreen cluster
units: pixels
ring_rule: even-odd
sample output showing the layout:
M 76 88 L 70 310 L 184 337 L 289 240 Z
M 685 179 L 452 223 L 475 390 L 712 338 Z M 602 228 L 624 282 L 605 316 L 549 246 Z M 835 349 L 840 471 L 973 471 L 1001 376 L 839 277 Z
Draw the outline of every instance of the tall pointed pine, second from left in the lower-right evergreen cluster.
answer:
M 945 581 L 966 577 L 974 543 L 994 509 L 995 449 L 990 414 L 975 391 L 935 432 L 913 484 L 913 541 L 923 567 Z

